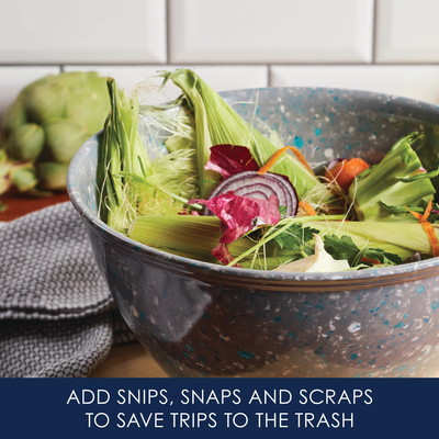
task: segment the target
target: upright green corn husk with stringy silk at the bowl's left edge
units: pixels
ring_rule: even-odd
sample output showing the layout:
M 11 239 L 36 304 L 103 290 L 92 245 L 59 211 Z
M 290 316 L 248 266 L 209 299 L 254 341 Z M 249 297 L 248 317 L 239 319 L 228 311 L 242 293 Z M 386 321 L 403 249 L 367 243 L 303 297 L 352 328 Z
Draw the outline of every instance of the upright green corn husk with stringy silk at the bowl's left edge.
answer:
M 137 92 L 131 99 L 120 95 L 113 78 L 108 87 L 111 112 L 98 151 L 99 215 L 124 233 L 138 215 L 177 215 L 183 210 L 196 193 L 193 151 L 177 151 L 153 162 L 137 131 Z

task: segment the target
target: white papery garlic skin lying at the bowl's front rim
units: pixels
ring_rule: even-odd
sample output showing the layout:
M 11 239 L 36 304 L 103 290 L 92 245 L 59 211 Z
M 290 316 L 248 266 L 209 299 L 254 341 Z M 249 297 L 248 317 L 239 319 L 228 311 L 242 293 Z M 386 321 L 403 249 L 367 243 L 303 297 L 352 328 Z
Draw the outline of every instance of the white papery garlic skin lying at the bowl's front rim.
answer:
M 314 234 L 315 249 L 314 255 L 299 259 L 294 262 L 285 263 L 272 271 L 282 271 L 286 273 L 326 273 L 330 271 L 348 270 L 349 262 L 346 259 L 336 260 L 325 251 L 323 240 L 319 235 Z

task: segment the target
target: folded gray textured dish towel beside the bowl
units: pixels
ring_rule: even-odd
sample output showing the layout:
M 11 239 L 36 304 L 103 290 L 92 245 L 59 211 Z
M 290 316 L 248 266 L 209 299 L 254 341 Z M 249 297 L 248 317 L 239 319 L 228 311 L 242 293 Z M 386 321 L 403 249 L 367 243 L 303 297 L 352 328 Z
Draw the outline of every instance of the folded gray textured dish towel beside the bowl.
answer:
M 70 202 L 0 226 L 0 376 L 87 376 L 135 340 Z

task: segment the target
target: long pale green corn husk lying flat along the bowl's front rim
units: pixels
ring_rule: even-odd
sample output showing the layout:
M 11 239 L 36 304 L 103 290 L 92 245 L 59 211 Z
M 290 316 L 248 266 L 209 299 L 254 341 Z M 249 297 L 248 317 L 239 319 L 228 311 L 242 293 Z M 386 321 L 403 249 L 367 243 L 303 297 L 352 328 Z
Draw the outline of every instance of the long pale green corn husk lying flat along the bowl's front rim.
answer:
M 309 219 L 313 218 L 294 218 L 290 219 L 290 223 L 305 223 Z M 381 248 L 398 255 L 402 259 L 406 259 L 417 251 L 426 257 L 432 256 L 430 241 L 420 224 L 398 223 L 395 227 L 394 224 L 386 222 L 309 221 L 308 225 L 318 229 L 323 237 L 326 234 L 338 237 L 349 236 L 359 248 L 364 246 Z M 439 226 L 434 227 L 439 238 Z M 138 243 L 172 255 L 217 263 L 211 251 L 218 244 L 222 234 L 219 219 L 214 216 L 153 215 L 137 217 L 130 228 L 128 236 Z M 407 239 L 407 236 L 410 238 Z M 273 240 L 267 240 L 266 245 L 261 245 L 261 243 L 244 237 L 230 244 L 229 250 L 235 258 L 230 266 L 239 263 L 245 268 L 251 267 L 255 252 L 258 255 L 258 263 L 252 267 L 255 269 L 274 269 L 281 262 L 292 259 L 292 255 L 289 255 L 288 250 L 280 250 Z

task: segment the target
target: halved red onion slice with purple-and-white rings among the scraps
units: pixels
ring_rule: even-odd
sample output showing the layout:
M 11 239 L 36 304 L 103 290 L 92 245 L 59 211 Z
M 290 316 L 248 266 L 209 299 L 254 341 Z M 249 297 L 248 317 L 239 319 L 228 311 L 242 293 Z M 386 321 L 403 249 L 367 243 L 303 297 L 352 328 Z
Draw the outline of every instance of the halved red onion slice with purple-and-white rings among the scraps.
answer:
M 284 176 L 267 172 L 259 175 L 257 171 L 235 173 L 223 180 L 211 193 L 209 199 L 233 191 L 239 196 L 250 196 L 259 200 L 269 200 L 271 195 L 278 196 L 279 205 L 286 207 L 286 216 L 297 213 L 299 198 L 294 187 Z M 204 215 L 213 215 L 204 209 Z

